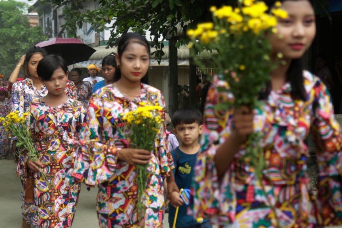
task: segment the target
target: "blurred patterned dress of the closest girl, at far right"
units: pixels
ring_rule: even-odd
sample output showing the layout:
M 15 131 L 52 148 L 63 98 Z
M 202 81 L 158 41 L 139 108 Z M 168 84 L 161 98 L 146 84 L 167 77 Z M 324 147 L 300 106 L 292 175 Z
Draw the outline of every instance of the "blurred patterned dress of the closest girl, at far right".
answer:
M 335 120 L 326 86 L 304 71 L 307 101 L 293 100 L 291 86 L 272 91 L 261 109 L 255 110 L 254 130 L 264 138 L 266 167 L 262 183 L 275 207 L 280 227 L 317 227 L 342 223 L 342 135 Z M 222 88 L 226 92 L 218 92 Z M 275 227 L 271 206 L 255 181 L 246 145 L 235 154 L 224 177 L 218 180 L 214 156 L 232 132 L 233 110 L 215 110 L 232 102 L 225 81 L 216 78 L 208 92 L 202 149 L 193 182 L 196 217 L 208 217 L 234 227 Z M 318 193 L 313 195 L 305 161 L 309 156 L 304 139 L 309 131 L 317 143 Z M 273 184 L 271 184 L 271 182 Z

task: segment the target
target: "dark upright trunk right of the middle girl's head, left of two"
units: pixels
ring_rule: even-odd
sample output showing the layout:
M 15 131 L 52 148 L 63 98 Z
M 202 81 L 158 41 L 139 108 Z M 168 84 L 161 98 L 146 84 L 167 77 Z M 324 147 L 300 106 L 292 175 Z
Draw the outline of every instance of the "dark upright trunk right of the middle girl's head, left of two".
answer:
M 178 56 L 176 48 L 177 38 L 172 37 L 169 40 L 169 115 L 178 109 Z

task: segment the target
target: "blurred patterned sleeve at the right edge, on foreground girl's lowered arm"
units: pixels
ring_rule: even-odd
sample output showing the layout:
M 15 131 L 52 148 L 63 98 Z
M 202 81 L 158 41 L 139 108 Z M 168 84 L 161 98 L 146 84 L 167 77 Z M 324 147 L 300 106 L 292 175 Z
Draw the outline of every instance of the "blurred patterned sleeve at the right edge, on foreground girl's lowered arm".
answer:
M 318 221 L 324 226 L 342 224 L 341 127 L 324 83 L 317 80 L 311 92 L 315 94 L 312 133 L 317 143 Z

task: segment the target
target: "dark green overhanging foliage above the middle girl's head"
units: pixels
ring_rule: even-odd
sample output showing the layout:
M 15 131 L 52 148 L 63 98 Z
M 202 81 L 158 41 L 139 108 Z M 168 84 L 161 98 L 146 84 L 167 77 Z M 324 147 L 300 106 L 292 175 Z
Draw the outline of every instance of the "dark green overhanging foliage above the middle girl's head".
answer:
M 164 44 L 158 41 L 159 37 L 165 40 L 170 33 L 175 34 L 179 27 L 182 28 L 183 35 L 177 34 L 181 36 L 178 36 L 176 46 L 187 44 L 189 39 L 185 36 L 186 30 L 195 28 L 199 22 L 211 20 L 210 6 L 220 6 L 235 0 L 98 0 L 100 6 L 93 11 L 83 10 L 86 0 L 40 0 L 40 2 L 65 5 L 64 27 L 75 37 L 77 26 L 82 27 L 83 22 L 90 23 L 97 32 L 109 29 L 110 46 L 115 45 L 120 34 L 129 29 L 142 34 L 148 30 L 150 35 L 154 36 L 151 46 L 157 48 L 155 57 L 160 59 L 164 54 L 161 51 Z M 115 21 L 112 23 L 113 19 Z M 106 24 L 110 26 L 107 27 Z

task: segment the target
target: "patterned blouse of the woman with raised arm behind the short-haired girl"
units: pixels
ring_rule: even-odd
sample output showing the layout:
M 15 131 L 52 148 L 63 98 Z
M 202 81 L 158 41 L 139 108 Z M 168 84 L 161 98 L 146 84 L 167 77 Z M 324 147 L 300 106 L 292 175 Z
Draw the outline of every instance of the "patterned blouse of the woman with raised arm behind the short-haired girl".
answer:
M 33 99 L 44 97 L 48 94 L 48 90 L 43 85 L 37 90 L 33 85 L 33 81 L 29 78 L 19 81 L 12 86 L 12 111 L 18 110 L 19 113 L 27 112 Z M 76 99 L 76 87 L 74 82 L 67 80 L 65 94 Z

